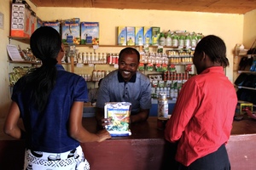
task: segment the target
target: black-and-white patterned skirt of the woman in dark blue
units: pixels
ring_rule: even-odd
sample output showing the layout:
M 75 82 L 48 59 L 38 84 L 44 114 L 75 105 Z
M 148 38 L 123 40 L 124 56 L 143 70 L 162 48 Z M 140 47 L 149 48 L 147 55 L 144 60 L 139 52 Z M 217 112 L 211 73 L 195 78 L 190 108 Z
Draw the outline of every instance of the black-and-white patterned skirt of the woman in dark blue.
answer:
M 82 147 L 64 153 L 26 150 L 24 170 L 89 170 Z

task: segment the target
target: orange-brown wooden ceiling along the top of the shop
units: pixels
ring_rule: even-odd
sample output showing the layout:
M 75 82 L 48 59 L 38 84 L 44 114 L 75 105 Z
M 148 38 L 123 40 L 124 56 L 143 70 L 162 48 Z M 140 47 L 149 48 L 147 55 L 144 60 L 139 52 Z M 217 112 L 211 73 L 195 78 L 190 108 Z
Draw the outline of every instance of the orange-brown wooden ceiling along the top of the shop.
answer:
M 256 0 L 30 0 L 37 7 L 133 8 L 246 14 Z

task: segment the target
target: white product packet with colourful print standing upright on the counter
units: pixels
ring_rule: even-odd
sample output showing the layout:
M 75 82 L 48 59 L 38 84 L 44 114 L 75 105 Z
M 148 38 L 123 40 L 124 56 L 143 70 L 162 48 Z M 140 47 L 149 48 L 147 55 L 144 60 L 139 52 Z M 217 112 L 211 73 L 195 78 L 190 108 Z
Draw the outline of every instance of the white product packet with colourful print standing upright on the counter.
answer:
M 131 103 L 107 102 L 104 106 L 104 117 L 111 118 L 111 124 L 106 129 L 111 136 L 131 135 L 130 126 Z

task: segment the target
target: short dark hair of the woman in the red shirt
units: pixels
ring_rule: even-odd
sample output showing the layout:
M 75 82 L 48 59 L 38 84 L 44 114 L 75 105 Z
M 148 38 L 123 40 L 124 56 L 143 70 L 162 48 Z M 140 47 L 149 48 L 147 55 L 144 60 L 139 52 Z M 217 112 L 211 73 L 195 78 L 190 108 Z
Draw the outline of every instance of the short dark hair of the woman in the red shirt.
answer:
M 196 45 L 195 51 L 199 54 L 205 52 L 213 63 L 219 63 L 224 68 L 230 65 L 229 59 L 226 57 L 225 43 L 220 37 L 214 35 L 203 37 Z

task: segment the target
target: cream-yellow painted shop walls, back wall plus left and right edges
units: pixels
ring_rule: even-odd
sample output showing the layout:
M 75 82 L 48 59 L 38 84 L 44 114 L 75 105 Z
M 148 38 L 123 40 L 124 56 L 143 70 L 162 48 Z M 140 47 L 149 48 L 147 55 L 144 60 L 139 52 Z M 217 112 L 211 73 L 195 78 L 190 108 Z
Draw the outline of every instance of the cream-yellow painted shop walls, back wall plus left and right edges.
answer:
M 2 69 L 0 72 L 0 118 L 6 115 L 10 103 L 9 63 L 6 52 L 6 45 L 9 43 L 10 3 L 10 0 L 2 0 L 0 6 L 0 12 L 4 14 L 4 29 L 0 29 L 0 68 Z M 226 42 L 227 57 L 230 59 L 227 76 L 230 81 L 233 81 L 233 48 L 236 43 L 247 41 L 246 37 L 249 37 L 249 34 L 244 33 L 247 29 L 245 25 L 247 23 L 251 26 L 256 15 L 255 11 L 252 14 L 250 12 L 242 15 L 112 8 L 36 8 L 32 4 L 31 6 L 42 20 L 80 18 L 81 21 L 100 22 L 101 44 L 116 44 L 116 26 L 160 26 L 161 31 L 186 30 L 201 32 L 204 35 L 215 34 Z M 253 30 L 255 27 L 254 25 Z M 245 38 L 244 41 L 243 38 Z M 20 45 L 21 48 L 27 46 L 26 44 Z M 88 49 L 79 48 L 79 51 L 84 52 L 84 50 Z M 118 53 L 119 50 L 120 48 L 100 48 L 97 51 Z

